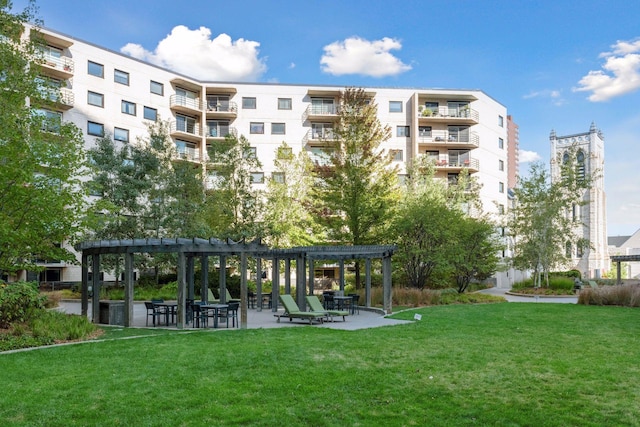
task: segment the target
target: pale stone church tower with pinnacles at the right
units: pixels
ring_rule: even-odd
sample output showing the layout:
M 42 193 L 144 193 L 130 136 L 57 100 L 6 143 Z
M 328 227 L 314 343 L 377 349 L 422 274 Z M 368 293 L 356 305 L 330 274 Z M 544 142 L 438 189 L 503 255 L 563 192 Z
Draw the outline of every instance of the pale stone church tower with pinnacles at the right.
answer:
M 558 136 L 554 130 L 549 136 L 551 142 L 551 179 L 560 174 L 561 162 L 575 155 L 578 171 L 593 178 L 592 186 L 582 195 L 584 204 L 574 206 L 569 214 L 579 220 L 576 235 L 587 239 L 590 248 L 581 251 L 575 242 L 567 242 L 566 251 L 570 255 L 570 268 L 582 273 L 583 279 L 597 279 L 609 269 L 607 248 L 607 210 L 604 192 L 604 136 L 591 123 L 589 132 Z

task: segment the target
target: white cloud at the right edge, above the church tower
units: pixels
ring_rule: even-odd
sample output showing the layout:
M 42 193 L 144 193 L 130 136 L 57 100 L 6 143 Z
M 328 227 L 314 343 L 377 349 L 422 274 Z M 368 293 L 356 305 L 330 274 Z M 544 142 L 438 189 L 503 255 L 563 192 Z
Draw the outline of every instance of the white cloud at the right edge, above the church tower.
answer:
M 635 41 L 618 41 L 612 45 L 611 52 L 603 52 L 606 58 L 603 70 L 589 71 L 573 90 L 591 92 L 589 100 L 593 102 L 608 101 L 640 89 L 640 39 Z

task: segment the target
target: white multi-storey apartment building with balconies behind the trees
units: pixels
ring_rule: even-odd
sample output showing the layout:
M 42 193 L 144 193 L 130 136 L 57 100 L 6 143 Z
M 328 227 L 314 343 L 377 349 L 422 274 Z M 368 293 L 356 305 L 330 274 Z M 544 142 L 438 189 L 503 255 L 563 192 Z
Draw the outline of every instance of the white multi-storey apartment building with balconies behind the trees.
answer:
M 306 150 L 322 161 L 319 145 L 331 137 L 338 96 L 326 85 L 199 81 L 50 29 L 44 73 L 61 87 L 55 110 L 75 123 L 86 147 L 109 133 L 122 143 L 147 135 L 149 120 L 169 120 L 178 155 L 207 168 L 207 150 L 233 133 L 255 148 L 263 169 L 274 170 L 277 147 Z M 417 156 L 433 159 L 437 175 L 455 181 L 467 168 L 481 183 L 483 211 L 507 206 L 507 109 L 481 90 L 363 88 L 377 103 L 381 123 L 392 128 L 384 143 L 401 173 Z M 186 236 L 185 236 L 186 237 Z M 80 279 L 76 266 L 47 265 L 46 281 Z

